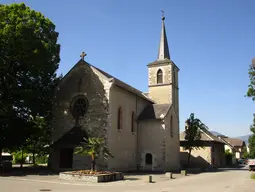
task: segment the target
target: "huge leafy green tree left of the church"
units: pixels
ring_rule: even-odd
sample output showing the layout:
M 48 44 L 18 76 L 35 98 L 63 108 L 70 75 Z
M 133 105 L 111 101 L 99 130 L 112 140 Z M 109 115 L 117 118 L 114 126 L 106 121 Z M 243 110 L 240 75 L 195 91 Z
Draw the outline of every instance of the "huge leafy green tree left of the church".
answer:
M 24 3 L 0 5 L 0 158 L 27 141 L 30 117 L 51 119 L 60 45 L 55 25 Z

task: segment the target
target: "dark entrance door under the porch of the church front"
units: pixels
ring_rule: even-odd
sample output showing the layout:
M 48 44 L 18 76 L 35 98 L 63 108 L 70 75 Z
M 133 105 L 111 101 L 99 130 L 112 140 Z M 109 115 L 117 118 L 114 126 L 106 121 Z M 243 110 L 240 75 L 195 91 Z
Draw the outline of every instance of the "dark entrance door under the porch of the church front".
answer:
M 73 148 L 62 148 L 59 153 L 59 168 L 73 167 Z

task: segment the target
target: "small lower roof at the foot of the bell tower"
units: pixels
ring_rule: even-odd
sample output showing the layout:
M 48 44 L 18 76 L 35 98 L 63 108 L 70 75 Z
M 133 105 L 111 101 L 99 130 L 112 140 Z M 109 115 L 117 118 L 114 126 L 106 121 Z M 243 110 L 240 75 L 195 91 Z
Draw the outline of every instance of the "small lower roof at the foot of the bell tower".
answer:
M 138 120 L 163 119 L 167 114 L 171 104 L 151 104 L 144 108 Z

